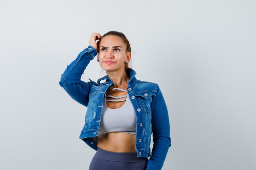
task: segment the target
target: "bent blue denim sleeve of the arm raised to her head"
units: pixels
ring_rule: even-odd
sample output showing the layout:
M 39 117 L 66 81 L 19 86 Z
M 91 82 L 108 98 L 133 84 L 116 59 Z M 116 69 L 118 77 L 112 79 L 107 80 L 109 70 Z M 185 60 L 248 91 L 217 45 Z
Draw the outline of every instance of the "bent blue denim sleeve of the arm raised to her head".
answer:
M 86 107 L 89 102 L 90 85 L 89 82 L 81 81 L 81 76 L 90 60 L 94 59 L 97 53 L 97 50 L 89 45 L 67 66 L 59 81 L 61 87 L 72 99 Z

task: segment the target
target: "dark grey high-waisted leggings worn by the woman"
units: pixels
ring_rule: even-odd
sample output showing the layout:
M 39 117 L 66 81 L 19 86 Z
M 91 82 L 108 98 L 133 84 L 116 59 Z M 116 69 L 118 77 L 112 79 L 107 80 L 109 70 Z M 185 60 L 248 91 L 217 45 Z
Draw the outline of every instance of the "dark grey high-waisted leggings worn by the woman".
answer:
M 148 158 L 136 152 L 110 152 L 98 147 L 89 170 L 146 170 Z

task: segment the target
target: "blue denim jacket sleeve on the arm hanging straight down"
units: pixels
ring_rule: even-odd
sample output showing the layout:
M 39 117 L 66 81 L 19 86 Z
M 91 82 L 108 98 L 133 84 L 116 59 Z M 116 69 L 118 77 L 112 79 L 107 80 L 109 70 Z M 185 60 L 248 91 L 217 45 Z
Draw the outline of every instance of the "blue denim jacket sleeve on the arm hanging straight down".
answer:
M 161 170 L 171 146 L 171 137 L 168 110 L 158 84 L 156 96 L 152 99 L 151 123 L 154 144 L 146 170 Z

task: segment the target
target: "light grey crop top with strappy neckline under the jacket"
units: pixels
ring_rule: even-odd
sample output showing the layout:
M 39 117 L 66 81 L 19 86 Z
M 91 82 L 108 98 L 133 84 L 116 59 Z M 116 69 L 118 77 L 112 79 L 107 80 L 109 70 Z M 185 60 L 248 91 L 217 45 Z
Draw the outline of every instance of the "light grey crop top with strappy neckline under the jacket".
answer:
M 97 137 L 100 138 L 108 132 L 125 132 L 130 134 L 136 134 L 136 113 L 130 97 L 127 95 L 115 97 L 112 95 L 106 95 L 113 90 L 120 90 L 127 92 L 121 88 L 113 88 L 112 90 L 104 94 L 103 107 L 101 114 L 101 123 Z M 115 100 L 107 100 L 106 97 L 112 97 Z M 119 99 L 126 97 L 126 99 Z M 106 102 L 119 102 L 126 101 L 123 106 L 117 109 L 108 108 Z

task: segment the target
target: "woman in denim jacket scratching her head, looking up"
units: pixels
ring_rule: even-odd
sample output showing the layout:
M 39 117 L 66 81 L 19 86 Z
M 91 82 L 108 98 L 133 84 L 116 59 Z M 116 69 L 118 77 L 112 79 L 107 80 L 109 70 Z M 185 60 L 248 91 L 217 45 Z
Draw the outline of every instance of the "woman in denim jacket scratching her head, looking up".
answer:
M 168 110 L 158 84 L 136 79 L 136 72 L 128 66 L 131 48 L 123 33 L 92 33 L 89 44 L 67 66 L 59 82 L 87 107 L 79 138 L 97 150 L 89 170 L 161 170 L 171 138 Z M 97 83 L 81 81 L 96 55 L 107 75 Z

